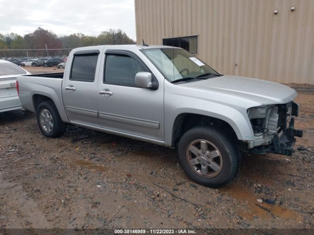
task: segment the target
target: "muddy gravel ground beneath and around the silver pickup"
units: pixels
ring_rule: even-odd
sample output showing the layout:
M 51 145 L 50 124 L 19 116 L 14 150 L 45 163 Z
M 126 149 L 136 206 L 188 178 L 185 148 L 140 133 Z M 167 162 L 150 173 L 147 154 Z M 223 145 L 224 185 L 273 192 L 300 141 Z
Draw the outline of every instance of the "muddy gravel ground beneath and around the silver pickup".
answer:
M 34 114 L 1 114 L 0 228 L 314 228 L 314 95 L 297 101 L 293 157 L 245 155 L 219 189 L 174 149 L 72 125 L 48 139 Z

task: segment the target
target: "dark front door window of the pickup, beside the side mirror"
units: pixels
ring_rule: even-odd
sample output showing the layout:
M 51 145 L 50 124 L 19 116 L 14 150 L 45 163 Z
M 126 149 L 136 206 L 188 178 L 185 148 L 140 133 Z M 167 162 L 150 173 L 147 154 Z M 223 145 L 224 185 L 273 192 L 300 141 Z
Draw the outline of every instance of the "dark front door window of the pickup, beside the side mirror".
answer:
M 146 71 L 132 57 L 122 54 L 107 54 L 105 62 L 105 83 L 135 86 L 135 74 Z

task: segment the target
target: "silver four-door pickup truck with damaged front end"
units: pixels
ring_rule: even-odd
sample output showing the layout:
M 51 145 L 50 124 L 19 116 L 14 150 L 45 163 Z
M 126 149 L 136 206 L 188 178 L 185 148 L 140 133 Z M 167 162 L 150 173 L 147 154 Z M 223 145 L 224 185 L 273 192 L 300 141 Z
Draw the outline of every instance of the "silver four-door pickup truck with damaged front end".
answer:
M 291 156 L 302 137 L 293 89 L 222 75 L 177 47 L 76 48 L 64 74 L 18 77 L 17 89 L 45 136 L 72 123 L 176 147 L 186 174 L 209 187 L 235 176 L 242 153 Z

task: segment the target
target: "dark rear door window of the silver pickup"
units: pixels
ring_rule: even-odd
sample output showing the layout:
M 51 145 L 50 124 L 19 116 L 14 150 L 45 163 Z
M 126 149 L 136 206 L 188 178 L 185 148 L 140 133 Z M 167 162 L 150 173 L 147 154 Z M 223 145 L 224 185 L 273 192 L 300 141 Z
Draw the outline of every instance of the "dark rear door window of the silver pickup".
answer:
M 95 80 L 98 55 L 75 55 L 70 75 L 72 81 L 93 82 Z

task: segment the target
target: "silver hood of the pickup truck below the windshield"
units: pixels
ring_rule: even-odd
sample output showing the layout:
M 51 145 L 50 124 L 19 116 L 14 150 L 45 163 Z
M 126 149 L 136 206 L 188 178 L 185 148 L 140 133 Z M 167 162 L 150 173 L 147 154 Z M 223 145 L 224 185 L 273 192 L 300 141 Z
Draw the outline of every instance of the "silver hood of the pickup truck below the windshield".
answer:
M 297 95 L 295 90 L 286 85 L 231 75 L 184 83 L 182 86 L 190 87 L 193 90 L 198 89 L 216 94 L 224 94 L 223 96 L 230 96 L 228 102 L 233 98 L 240 98 L 242 101 L 245 99 L 249 101 L 248 103 L 252 103 L 251 101 L 253 101 L 260 105 L 288 103 Z

